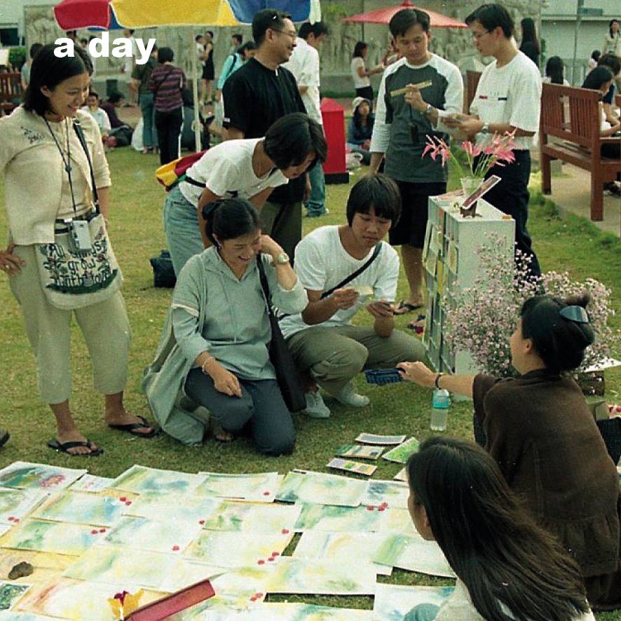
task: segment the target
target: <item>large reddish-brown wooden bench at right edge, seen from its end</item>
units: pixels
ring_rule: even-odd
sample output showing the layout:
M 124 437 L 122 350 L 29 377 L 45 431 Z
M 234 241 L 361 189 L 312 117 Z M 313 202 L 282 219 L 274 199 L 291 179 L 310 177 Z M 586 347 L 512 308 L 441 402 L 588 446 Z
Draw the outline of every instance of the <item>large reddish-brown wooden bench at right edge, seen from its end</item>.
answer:
M 568 118 L 566 118 L 568 109 Z M 550 161 L 558 159 L 591 173 L 591 219 L 603 219 L 603 184 L 616 179 L 618 159 L 603 158 L 603 144 L 619 138 L 602 138 L 601 93 L 598 90 L 543 84 L 540 118 L 541 189 L 552 193 Z M 550 137 L 557 138 L 550 142 Z

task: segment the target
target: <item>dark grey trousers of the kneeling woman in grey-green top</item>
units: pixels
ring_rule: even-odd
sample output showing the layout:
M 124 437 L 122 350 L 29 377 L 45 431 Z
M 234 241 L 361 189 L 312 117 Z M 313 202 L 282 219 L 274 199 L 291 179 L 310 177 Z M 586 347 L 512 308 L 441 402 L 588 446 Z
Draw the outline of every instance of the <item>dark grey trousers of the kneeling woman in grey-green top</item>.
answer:
M 261 453 L 285 455 L 293 451 L 295 429 L 291 414 L 273 379 L 240 379 L 241 397 L 219 393 L 212 378 L 192 369 L 185 393 L 196 404 L 206 407 L 226 431 L 240 432 L 247 423 Z

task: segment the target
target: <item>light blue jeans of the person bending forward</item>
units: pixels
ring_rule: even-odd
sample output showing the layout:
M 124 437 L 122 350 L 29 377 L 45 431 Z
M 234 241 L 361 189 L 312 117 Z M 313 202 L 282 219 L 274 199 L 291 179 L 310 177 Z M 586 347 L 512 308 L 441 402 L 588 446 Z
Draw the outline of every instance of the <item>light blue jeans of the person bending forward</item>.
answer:
M 198 228 L 198 212 L 175 186 L 164 203 L 164 232 L 172 259 L 172 268 L 179 276 L 181 268 L 194 254 L 205 250 Z

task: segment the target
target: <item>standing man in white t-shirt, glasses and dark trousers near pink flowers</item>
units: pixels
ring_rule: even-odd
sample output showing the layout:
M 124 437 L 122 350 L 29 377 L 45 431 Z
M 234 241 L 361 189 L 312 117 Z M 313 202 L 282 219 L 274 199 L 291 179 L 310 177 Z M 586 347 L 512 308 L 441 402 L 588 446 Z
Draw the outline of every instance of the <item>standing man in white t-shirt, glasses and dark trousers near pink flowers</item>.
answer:
M 517 250 L 530 258 L 528 271 L 540 275 L 531 236 L 526 229 L 528 219 L 528 179 L 531 175 L 531 146 L 539 130 L 541 76 L 535 64 L 521 53 L 513 39 L 514 23 L 507 9 L 500 4 L 479 6 L 465 19 L 475 46 L 482 56 L 493 56 L 483 71 L 470 114 L 458 127 L 469 137 L 476 137 L 478 146 L 488 146 L 494 134 L 515 132 L 515 161 L 491 168 L 486 177 L 502 179 L 485 199 L 515 220 Z

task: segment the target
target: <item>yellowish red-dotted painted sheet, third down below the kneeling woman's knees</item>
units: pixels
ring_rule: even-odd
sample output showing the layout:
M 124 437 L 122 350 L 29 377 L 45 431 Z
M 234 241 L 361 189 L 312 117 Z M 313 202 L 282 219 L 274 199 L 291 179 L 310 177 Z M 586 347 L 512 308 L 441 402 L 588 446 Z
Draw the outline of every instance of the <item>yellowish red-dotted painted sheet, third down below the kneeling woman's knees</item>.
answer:
M 283 528 L 283 531 L 288 531 Z M 293 538 L 287 533 L 227 533 L 202 531 L 184 558 L 222 567 L 253 567 L 277 564 Z

